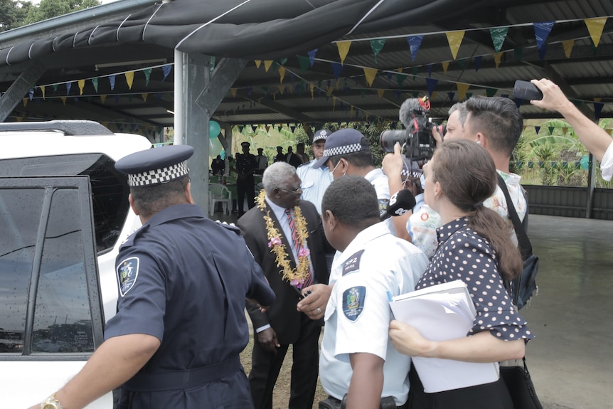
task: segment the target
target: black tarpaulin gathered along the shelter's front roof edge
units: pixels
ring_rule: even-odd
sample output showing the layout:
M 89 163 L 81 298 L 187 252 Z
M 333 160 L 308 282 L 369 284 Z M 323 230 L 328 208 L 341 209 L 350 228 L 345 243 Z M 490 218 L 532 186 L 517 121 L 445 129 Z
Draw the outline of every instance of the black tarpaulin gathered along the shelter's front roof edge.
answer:
M 343 36 L 417 25 L 474 6 L 469 0 L 175 0 L 55 38 L 0 50 L 0 65 L 70 48 L 151 43 L 218 57 L 274 59 Z M 67 27 L 67 31 L 70 28 Z

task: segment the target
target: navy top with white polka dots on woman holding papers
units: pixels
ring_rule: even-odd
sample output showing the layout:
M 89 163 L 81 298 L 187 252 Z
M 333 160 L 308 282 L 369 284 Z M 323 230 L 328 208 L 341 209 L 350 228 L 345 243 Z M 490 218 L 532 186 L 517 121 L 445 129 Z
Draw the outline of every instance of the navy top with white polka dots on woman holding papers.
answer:
M 468 218 L 459 218 L 437 228 L 437 252 L 415 290 L 462 280 L 476 309 L 474 326 L 467 335 L 489 330 L 506 341 L 532 339 L 526 320 L 516 312 L 504 288 L 494 250 L 468 222 Z

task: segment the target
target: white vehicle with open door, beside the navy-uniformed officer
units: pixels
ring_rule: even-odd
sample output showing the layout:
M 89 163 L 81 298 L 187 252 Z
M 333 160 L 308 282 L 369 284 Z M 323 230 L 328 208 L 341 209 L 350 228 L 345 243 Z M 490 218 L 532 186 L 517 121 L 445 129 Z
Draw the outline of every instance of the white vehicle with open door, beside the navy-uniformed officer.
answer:
M 139 228 L 117 160 L 151 147 L 96 122 L 0 123 L 0 385 L 7 408 L 63 386 L 116 312 L 114 262 Z M 113 407 L 112 393 L 87 408 Z

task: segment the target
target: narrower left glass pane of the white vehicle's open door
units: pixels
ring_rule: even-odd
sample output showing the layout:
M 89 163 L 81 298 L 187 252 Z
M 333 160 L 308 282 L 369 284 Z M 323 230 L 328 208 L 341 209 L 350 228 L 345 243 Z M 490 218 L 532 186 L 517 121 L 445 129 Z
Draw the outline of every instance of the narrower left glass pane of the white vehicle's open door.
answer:
M 23 351 L 43 189 L 0 190 L 0 352 Z

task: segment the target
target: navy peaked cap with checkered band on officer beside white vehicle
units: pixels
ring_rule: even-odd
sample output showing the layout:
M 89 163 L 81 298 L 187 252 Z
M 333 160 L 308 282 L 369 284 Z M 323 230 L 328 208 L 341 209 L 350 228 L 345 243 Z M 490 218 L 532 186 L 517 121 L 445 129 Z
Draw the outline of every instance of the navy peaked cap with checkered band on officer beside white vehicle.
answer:
M 164 184 L 188 176 L 186 160 L 193 155 L 188 145 L 168 145 L 134 152 L 115 164 L 115 169 L 128 175 L 131 187 Z

